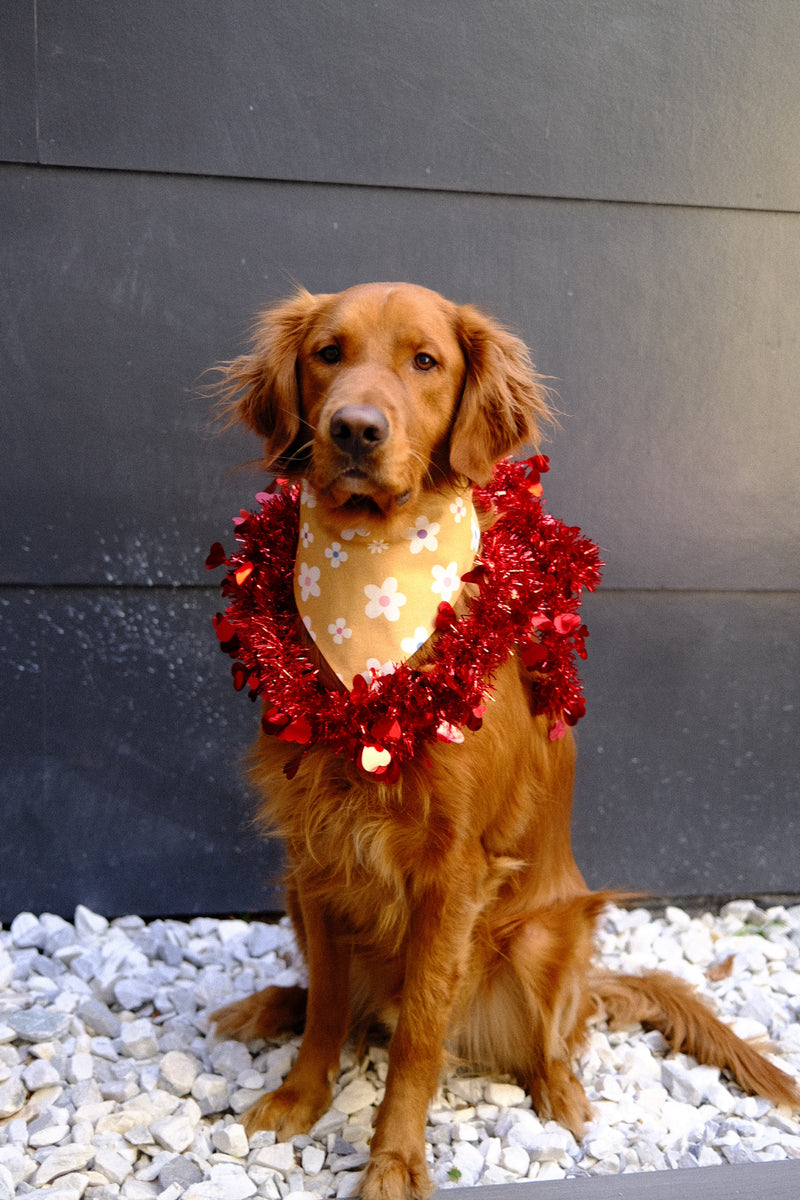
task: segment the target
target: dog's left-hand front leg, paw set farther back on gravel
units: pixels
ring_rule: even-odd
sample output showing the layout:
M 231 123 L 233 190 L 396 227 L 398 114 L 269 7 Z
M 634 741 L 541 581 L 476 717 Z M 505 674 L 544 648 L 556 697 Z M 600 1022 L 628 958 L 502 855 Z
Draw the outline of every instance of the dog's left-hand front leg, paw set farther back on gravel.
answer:
M 337 937 L 336 922 L 324 908 L 302 898 L 300 906 L 307 940 L 306 1030 L 281 1087 L 258 1100 L 245 1118 L 248 1133 L 275 1129 L 282 1141 L 308 1133 L 327 1110 L 350 1021 L 349 943 Z

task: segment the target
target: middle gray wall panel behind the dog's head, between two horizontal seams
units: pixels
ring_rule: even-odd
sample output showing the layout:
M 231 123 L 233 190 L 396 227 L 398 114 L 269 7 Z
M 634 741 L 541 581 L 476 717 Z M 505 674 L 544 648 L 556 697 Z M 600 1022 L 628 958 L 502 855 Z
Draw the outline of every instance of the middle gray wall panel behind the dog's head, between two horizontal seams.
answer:
M 800 216 L 5 168 L 12 582 L 204 581 L 255 439 L 201 371 L 290 289 L 410 278 L 516 325 L 564 428 L 547 498 L 614 587 L 800 578 Z

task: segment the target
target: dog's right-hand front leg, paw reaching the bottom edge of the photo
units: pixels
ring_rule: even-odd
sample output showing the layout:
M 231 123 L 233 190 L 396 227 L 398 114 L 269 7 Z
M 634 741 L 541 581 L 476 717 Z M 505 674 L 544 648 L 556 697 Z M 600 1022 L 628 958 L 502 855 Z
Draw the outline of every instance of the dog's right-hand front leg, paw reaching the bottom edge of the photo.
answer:
M 470 864 L 471 865 L 471 864 Z M 462 863 L 449 863 L 457 892 L 427 887 L 413 901 L 405 978 L 389 1048 L 386 1092 L 372 1139 L 362 1200 L 422 1200 L 432 1184 L 425 1162 L 425 1124 L 435 1093 L 444 1043 L 479 912 Z

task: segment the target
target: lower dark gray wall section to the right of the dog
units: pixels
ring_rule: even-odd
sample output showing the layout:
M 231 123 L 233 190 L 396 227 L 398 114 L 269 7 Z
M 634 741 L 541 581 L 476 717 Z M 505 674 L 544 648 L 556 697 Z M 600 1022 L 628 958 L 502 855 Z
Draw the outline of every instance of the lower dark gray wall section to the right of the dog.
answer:
M 800 598 L 587 599 L 575 852 L 664 895 L 800 892 Z

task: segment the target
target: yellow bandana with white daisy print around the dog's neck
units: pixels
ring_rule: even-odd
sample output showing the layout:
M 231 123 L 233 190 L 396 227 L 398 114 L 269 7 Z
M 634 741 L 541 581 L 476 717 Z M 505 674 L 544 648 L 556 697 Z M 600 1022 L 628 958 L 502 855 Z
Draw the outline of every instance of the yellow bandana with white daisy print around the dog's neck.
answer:
M 318 518 L 303 480 L 294 595 L 317 649 L 345 686 L 391 674 L 455 604 L 480 541 L 470 492 L 423 496 L 399 538 L 389 542 L 368 518 L 335 535 Z

